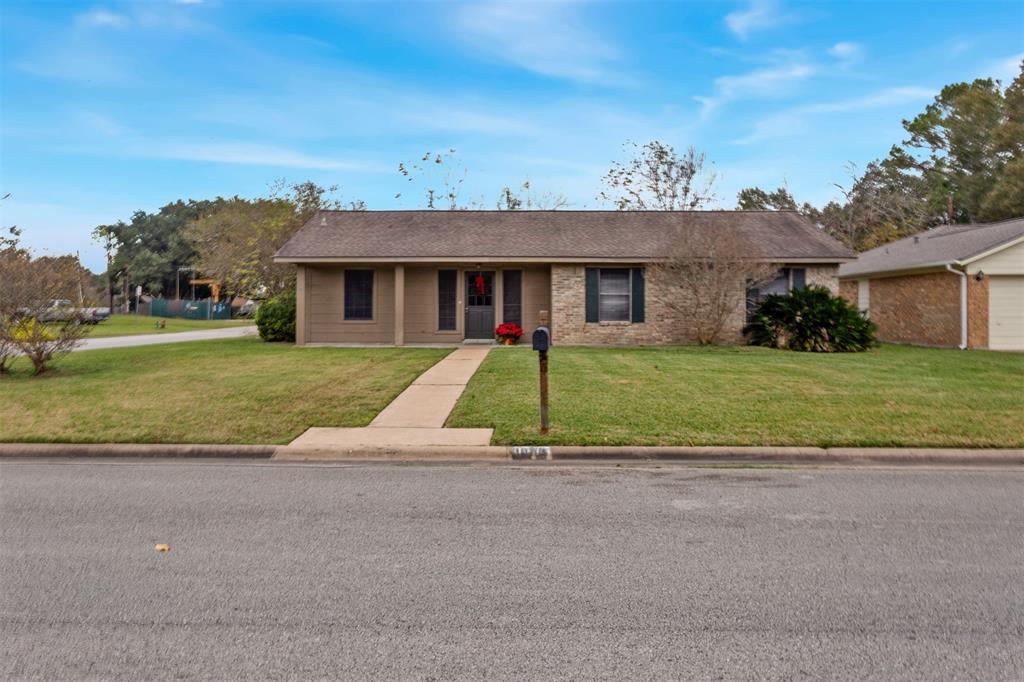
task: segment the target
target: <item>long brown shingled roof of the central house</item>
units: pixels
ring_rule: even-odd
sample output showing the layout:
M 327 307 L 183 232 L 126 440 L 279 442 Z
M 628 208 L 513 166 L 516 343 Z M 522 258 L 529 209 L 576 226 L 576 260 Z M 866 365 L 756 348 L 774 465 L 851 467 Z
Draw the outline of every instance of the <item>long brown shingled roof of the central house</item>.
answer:
M 681 230 L 734 229 L 755 257 L 839 261 L 854 253 L 792 211 L 322 211 L 279 261 L 404 258 L 653 260 Z

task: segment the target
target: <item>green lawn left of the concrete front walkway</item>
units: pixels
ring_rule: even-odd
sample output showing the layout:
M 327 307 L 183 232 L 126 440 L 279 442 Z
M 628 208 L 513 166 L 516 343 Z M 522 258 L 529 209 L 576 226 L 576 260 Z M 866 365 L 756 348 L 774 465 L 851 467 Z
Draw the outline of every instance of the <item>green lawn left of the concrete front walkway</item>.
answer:
M 242 338 L 75 352 L 42 377 L 22 358 L 0 378 L 0 440 L 285 443 L 366 426 L 447 352 Z

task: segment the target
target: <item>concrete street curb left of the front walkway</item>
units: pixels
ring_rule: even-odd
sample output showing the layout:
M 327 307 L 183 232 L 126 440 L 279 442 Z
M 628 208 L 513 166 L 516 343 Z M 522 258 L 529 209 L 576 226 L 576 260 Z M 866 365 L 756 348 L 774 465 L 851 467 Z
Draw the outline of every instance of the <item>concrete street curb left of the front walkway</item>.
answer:
M 278 445 L 213 445 L 203 443 L 4 442 L 0 443 L 0 459 L 17 457 L 269 459 L 278 447 Z

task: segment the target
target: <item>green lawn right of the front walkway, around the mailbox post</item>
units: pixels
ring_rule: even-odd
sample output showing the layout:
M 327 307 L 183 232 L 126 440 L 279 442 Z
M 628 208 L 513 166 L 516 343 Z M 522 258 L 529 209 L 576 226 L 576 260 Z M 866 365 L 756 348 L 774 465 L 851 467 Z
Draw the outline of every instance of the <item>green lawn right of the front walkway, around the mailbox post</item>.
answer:
M 1024 446 L 1021 353 L 559 347 L 546 437 L 537 366 L 497 348 L 449 426 L 503 444 Z

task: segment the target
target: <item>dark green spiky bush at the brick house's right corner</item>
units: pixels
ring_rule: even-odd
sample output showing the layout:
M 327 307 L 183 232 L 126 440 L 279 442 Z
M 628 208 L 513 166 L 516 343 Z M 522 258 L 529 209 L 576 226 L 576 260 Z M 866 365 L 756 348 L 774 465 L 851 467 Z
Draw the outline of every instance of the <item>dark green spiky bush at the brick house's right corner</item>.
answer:
M 856 352 L 877 344 L 876 325 L 822 287 L 771 295 L 743 328 L 751 345 L 812 352 Z

